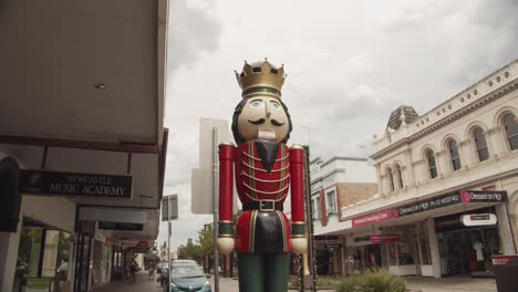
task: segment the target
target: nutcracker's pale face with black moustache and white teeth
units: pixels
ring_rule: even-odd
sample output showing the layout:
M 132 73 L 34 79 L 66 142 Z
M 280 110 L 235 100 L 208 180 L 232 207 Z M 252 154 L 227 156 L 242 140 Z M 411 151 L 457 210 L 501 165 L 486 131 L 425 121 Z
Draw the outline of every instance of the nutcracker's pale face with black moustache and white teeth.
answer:
M 238 117 L 238 131 L 247 142 L 257 138 L 281 142 L 289 132 L 288 116 L 276 97 L 249 97 Z

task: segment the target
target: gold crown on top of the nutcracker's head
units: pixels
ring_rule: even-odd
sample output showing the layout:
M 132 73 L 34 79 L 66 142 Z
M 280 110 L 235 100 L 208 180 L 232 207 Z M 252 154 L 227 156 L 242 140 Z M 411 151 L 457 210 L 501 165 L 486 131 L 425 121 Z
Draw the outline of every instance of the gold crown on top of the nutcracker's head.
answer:
M 247 63 L 242 66 L 239 74 L 236 71 L 236 77 L 242 90 L 242 97 L 248 98 L 256 95 L 270 95 L 277 98 L 281 97 L 281 87 L 284 83 L 284 65 L 277 67 L 265 58 L 262 62 Z

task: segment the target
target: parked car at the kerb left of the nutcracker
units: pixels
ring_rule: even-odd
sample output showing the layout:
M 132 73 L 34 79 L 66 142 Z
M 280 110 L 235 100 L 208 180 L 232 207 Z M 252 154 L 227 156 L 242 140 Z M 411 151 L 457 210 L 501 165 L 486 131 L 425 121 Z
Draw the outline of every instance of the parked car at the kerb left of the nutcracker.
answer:
M 191 260 L 175 260 L 172 263 L 169 285 L 166 292 L 211 292 L 210 282 L 201 268 Z

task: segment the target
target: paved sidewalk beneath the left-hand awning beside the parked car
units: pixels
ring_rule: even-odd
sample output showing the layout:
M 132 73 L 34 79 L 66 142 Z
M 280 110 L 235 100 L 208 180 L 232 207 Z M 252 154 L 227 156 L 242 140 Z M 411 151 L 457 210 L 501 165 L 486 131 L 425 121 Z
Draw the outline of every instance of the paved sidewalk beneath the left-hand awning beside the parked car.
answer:
M 156 273 L 155 273 L 156 275 Z M 155 278 L 156 279 L 156 278 Z M 160 283 L 156 280 L 149 280 L 147 271 L 136 273 L 136 283 L 131 283 L 127 280 L 121 282 L 112 282 L 101 288 L 94 289 L 94 292 L 163 292 Z

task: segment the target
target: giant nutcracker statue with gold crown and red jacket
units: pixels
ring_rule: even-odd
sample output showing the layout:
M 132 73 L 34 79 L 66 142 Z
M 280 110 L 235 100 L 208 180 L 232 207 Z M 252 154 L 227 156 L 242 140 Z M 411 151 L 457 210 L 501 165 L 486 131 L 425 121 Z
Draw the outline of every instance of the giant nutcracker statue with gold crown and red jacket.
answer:
M 286 292 L 290 252 L 307 250 L 304 149 L 286 145 L 292 124 L 281 101 L 284 69 L 267 60 L 236 72 L 242 100 L 232 117 L 237 146 L 219 145 L 218 249 L 236 250 L 239 291 Z M 234 234 L 232 189 L 242 204 Z M 291 220 L 283 202 L 291 194 Z

